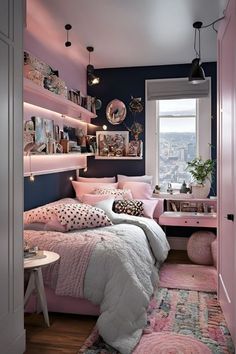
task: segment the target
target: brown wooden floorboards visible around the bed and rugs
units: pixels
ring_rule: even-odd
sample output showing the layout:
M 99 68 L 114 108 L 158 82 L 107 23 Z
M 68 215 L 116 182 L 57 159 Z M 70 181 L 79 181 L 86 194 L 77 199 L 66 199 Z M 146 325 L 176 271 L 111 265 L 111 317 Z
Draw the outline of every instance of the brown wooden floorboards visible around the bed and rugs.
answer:
M 167 262 L 191 263 L 185 251 L 170 251 Z M 76 354 L 91 333 L 96 317 L 49 314 L 46 327 L 42 314 L 26 314 L 25 354 Z

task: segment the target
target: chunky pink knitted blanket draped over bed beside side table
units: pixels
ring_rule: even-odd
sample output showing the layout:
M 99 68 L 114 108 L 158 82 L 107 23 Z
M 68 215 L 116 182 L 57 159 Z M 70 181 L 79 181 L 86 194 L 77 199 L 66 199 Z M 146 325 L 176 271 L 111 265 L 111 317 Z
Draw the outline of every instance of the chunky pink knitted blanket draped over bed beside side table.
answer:
M 107 231 L 60 233 L 55 231 L 26 230 L 24 237 L 30 247 L 57 252 L 56 262 L 43 269 L 45 285 L 55 289 L 57 295 L 83 297 L 86 269 L 98 242 L 111 240 Z

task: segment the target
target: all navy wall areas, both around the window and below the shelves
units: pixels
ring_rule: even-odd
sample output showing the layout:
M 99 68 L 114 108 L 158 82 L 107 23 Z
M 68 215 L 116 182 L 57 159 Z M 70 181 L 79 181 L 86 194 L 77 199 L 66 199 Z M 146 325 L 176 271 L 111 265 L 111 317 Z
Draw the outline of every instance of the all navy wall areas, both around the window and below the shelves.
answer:
M 204 63 L 203 68 L 206 76 L 211 77 L 212 92 L 212 158 L 216 158 L 216 63 Z M 102 100 L 102 108 L 97 112 L 98 118 L 93 123 L 99 126 L 106 124 L 108 130 L 126 130 L 122 124 L 111 125 L 106 119 L 106 106 L 114 98 L 122 100 L 128 107 L 131 96 L 141 97 L 145 104 L 145 80 L 187 77 L 190 71 L 190 64 L 162 65 L 133 68 L 115 68 L 96 70 L 100 77 L 99 85 L 89 87 L 88 93 Z M 145 124 L 145 107 L 143 112 L 138 113 L 136 121 Z M 133 123 L 133 116 L 127 109 L 125 124 L 130 127 Z M 90 134 L 95 131 L 90 129 Z M 144 141 L 145 132 L 140 138 Z M 144 141 L 144 156 L 145 144 Z M 142 175 L 145 173 L 145 159 L 142 160 L 95 160 L 88 158 L 88 171 L 83 172 L 84 176 L 115 176 L 117 174 Z M 25 210 L 60 199 L 62 197 L 73 197 L 74 191 L 69 181 L 69 176 L 74 172 L 62 172 L 49 175 L 36 176 L 35 182 L 25 178 Z M 215 183 L 213 183 L 215 189 Z M 212 193 L 214 194 L 214 192 Z

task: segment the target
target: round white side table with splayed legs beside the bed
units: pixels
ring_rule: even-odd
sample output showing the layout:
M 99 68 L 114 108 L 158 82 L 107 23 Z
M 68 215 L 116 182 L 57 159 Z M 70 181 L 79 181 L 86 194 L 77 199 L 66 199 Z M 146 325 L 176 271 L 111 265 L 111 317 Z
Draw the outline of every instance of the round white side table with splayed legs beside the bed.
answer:
M 40 252 L 40 251 L 39 251 Z M 36 290 L 38 302 L 43 311 L 44 320 L 47 326 L 50 326 L 48 317 L 47 298 L 45 295 L 42 268 L 55 263 L 60 258 L 55 252 L 43 251 L 44 258 L 24 258 L 24 270 L 30 272 L 29 282 L 25 292 L 24 304 L 29 300 L 30 295 Z

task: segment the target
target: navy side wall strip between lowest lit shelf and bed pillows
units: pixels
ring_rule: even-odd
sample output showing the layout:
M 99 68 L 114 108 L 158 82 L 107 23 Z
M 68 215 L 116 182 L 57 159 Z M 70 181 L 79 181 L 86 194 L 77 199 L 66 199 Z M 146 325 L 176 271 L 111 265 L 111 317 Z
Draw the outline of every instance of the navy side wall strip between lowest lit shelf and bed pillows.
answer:
M 70 177 L 76 179 L 76 171 L 35 176 L 34 182 L 24 178 L 24 209 L 29 210 L 54 200 L 75 197 Z

